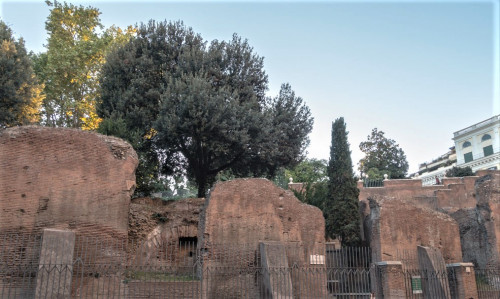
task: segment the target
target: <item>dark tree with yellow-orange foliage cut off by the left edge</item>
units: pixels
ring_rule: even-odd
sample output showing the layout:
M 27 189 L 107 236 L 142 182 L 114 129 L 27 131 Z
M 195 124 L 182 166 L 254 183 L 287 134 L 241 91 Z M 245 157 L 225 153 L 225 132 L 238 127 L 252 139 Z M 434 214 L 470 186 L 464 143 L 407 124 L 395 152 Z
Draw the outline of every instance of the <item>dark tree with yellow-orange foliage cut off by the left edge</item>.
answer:
M 38 122 L 41 90 L 23 39 L 0 20 L 0 128 Z

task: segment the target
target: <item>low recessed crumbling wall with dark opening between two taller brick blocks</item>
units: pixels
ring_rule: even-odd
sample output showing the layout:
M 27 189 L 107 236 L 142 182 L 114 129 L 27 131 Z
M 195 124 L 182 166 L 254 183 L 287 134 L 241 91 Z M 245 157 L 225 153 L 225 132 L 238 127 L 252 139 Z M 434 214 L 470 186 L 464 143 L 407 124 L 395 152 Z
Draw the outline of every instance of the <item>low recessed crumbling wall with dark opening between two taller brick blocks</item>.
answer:
M 193 267 L 204 198 L 135 198 L 130 205 L 129 263 Z

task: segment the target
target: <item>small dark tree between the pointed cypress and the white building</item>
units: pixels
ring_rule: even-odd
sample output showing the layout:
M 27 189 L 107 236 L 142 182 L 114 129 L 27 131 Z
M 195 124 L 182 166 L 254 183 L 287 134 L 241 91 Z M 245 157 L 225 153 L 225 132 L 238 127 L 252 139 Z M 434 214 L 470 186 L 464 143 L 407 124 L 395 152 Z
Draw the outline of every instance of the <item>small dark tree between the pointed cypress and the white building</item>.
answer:
M 359 161 L 362 173 L 387 174 L 392 179 L 402 179 L 408 173 L 408 161 L 404 151 L 394 140 L 385 137 L 383 131 L 372 130 L 359 148 L 365 157 Z

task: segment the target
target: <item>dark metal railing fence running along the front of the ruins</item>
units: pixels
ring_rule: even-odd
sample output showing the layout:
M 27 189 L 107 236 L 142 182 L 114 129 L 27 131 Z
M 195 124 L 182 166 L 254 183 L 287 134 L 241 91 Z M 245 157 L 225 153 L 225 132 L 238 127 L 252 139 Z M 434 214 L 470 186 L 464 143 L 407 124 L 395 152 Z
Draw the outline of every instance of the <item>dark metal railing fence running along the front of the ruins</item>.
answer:
M 311 251 L 286 243 L 282 264 L 266 265 L 250 244 L 78 236 L 71 263 L 40 264 L 40 235 L 1 236 L 0 242 L 0 298 L 379 298 L 387 280 L 369 248 Z M 408 265 L 397 273 L 406 298 L 454 298 L 453 272 L 413 269 L 413 255 L 398 255 Z M 500 298 L 498 270 L 475 274 L 480 299 Z

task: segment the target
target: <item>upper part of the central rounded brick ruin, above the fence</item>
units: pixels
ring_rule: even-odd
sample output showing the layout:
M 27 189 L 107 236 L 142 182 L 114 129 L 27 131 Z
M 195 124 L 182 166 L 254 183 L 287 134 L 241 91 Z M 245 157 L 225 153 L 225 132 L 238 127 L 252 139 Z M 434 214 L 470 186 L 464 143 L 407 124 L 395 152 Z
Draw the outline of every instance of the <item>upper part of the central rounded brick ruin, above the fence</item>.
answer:
M 254 244 L 257 249 L 262 240 L 300 242 L 313 251 L 325 243 L 321 210 L 266 179 L 218 183 L 201 221 L 201 239 L 207 244 Z

